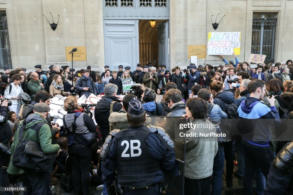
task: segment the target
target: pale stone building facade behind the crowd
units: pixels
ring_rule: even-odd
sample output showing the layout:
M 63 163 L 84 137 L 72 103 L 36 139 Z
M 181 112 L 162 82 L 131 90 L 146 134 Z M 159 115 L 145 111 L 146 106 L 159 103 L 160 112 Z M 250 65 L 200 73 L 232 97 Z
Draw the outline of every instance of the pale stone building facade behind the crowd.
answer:
M 122 6 L 131 2 L 132 6 L 140 8 L 140 11 L 137 10 L 139 14 L 132 11 L 128 13 L 127 8 Z M 106 6 L 107 3 L 117 4 L 118 8 Z M 145 3 L 149 5 L 140 6 L 146 5 Z M 161 12 L 159 8 L 154 7 L 157 4 L 166 5 L 169 13 L 160 14 L 166 9 Z M 154 9 L 148 11 L 149 7 Z M 102 71 L 105 61 L 116 55 L 115 52 L 105 50 L 105 45 L 108 44 L 105 42 L 105 20 L 108 18 L 137 20 L 137 23 L 152 19 L 167 21 L 168 47 L 164 63 L 168 64 L 168 68 L 173 68 L 176 65 L 185 67 L 190 63 L 188 45 L 207 45 L 208 32 L 241 32 L 241 49 L 238 58 L 240 61 L 247 61 L 252 53 L 252 44 L 256 44 L 256 48 L 258 47 L 256 50 L 259 50 L 259 43 L 255 43 L 257 40 L 253 33 L 256 29 L 253 27 L 253 18 L 272 16 L 270 18 L 277 18 L 271 25 L 273 30 L 264 27 L 265 24 L 270 23 L 266 21 L 268 18 L 262 19 L 264 25 L 259 23 L 257 27 L 259 34 L 262 34 L 260 47 L 262 46 L 263 50 L 265 47 L 270 48 L 267 52 L 275 63 L 283 62 L 292 59 L 291 8 L 293 8 L 292 0 L 0 0 L 0 11 L 6 14 L 7 18 L 8 49 L 12 69 L 28 70 L 34 70 L 34 65 L 37 64 L 43 65 L 45 70 L 51 64 L 71 66 L 71 61 L 66 59 L 65 47 L 85 46 L 86 61 L 74 61 L 74 68 L 86 68 L 87 65 L 91 65 L 94 70 Z M 113 13 L 109 15 L 112 9 Z M 122 11 L 122 14 L 117 10 Z M 54 23 L 58 21 L 58 14 L 60 17 L 55 31 L 47 21 L 48 19 L 52 23 L 50 13 Z M 217 30 L 214 30 L 211 16 L 214 15 L 214 20 L 218 13 L 217 22 L 225 16 Z M 271 34 L 265 35 L 268 32 Z M 139 37 L 136 37 L 136 40 L 141 41 Z M 2 45 L 2 49 L 3 47 Z M 132 70 L 135 70 L 140 54 L 134 52 L 131 55 L 137 56 L 138 59 L 132 61 Z M 225 58 L 230 60 L 233 56 L 225 56 Z M 156 60 L 159 64 L 159 59 Z M 223 64 L 219 56 L 207 54 L 205 58 L 198 59 L 198 64 L 206 63 Z M 116 65 L 113 66 L 115 67 Z

